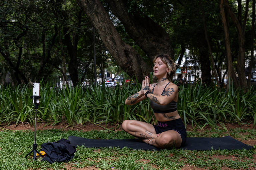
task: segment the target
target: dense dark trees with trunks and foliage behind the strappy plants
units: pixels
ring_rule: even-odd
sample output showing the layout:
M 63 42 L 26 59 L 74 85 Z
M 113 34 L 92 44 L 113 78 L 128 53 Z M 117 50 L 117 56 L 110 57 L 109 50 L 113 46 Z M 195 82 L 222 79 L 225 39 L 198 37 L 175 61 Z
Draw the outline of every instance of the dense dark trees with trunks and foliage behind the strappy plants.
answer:
M 93 80 L 93 27 L 98 76 L 117 65 L 141 81 L 159 53 L 206 85 L 249 87 L 255 68 L 255 0 L 4 0 L 0 14 L 2 82 Z

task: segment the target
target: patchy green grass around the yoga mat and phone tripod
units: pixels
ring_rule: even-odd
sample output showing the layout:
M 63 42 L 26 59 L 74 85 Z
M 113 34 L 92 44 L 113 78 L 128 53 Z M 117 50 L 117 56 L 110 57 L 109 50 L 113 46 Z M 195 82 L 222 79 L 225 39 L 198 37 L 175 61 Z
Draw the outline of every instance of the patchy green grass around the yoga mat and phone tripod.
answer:
M 209 137 L 212 134 L 219 133 L 220 136 L 231 135 L 237 139 L 248 140 L 248 134 L 255 136 L 255 129 L 231 129 L 225 130 L 206 130 L 203 132 L 188 131 L 188 137 Z M 236 135 L 241 133 L 240 135 Z M 93 131 L 62 131 L 58 129 L 38 130 L 37 143 L 38 150 L 40 144 L 44 142 L 57 141 L 60 138 L 68 138 L 70 135 L 81 136 L 94 139 L 125 139 L 133 138 L 124 131 L 109 132 L 106 130 Z M 254 137 L 255 139 L 255 137 Z M 164 149 L 161 151 L 131 150 L 130 148 L 84 148 L 77 147 L 74 159 L 67 163 L 41 162 L 41 158 L 32 161 L 32 155 L 24 156 L 32 149 L 34 140 L 33 131 L 1 131 L 0 132 L 0 169 L 6 170 L 25 170 L 25 169 L 63 169 L 83 168 L 94 166 L 99 169 L 120 169 L 137 170 L 141 169 L 181 169 L 190 167 L 191 169 L 222 169 L 229 167 L 231 169 L 251 169 L 256 168 L 255 154 L 256 145 L 251 150 L 207 150 L 207 151 L 189 151 L 183 149 Z M 225 159 L 219 159 L 225 156 Z M 233 156 L 233 157 L 232 157 Z

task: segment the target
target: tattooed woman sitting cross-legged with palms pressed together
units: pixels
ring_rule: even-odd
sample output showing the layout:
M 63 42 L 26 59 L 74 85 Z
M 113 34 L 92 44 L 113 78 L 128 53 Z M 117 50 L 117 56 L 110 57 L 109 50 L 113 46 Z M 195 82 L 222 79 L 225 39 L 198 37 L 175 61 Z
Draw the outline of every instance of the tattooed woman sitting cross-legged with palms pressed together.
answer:
M 176 64 L 170 56 L 161 54 L 155 56 L 154 74 L 157 83 L 149 84 L 146 76 L 142 89 L 129 96 L 125 104 L 133 105 L 144 99 L 150 99 L 150 106 L 158 121 L 157 125 L 135 120 L 125 120 L 122 128 L 133 136 L 142 138 L 145 143 L 158 148 L 183 146 L 187 139 L 186 129 L 177 111 L 178 87 L 170 82 L 175 74 Z

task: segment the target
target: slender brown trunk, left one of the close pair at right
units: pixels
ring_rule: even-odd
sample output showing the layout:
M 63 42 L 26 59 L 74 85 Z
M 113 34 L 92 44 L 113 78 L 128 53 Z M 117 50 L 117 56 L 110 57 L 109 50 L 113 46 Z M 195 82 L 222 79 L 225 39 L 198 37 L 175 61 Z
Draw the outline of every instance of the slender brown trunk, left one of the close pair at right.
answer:
M 221 21 L 223 24 L 224 34 L 225 34 L 225 48 L 226 48 L 226 55 L 227 55 L 227 65 L 228 65 L 228 82 L 227 82 L 227 90 L 231 85 L 232 80 L 232 73 L 234 73 L 233 65 L 232 65 L 232 56 L 231 56 L 231 49 L 230 49 L 230 41 L 229 41 L 229 33 L 228 33 L 228 25 L 226 21 L 225 9 L 224 9 L 224 2 L 225 0 L 220 1 L 220 14 L 221 14 Z M 236 78 L 233 79 L 235 88 L 237 88 Z

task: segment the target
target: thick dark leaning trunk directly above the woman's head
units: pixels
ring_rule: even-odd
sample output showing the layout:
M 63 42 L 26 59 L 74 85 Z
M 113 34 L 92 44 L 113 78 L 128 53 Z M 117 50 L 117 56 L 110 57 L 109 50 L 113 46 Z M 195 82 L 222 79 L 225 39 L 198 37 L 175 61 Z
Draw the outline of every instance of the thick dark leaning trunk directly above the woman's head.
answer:
M 166 53 L 172 58 L 174 57 L 171 39 L 165 29 L 140 11 L 129 13 L 125 0 L 106 1 L 107 6 L 125 27 L 125 31 L 151 60 L 159 53 Z

